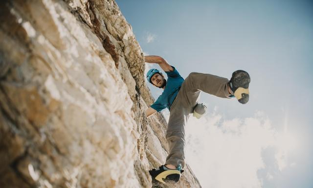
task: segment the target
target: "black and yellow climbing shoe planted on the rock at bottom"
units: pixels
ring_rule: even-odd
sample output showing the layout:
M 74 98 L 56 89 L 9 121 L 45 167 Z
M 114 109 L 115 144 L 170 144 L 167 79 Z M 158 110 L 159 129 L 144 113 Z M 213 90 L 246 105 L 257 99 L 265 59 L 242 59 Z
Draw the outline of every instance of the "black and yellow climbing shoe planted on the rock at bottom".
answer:
M 158 169 L 149 170 L 149 173 L 153 179 L 165 184 L 171 181 L 178 182 L 183 171 L 180 164 L 176 169 L 169 169 L 161 165 Z

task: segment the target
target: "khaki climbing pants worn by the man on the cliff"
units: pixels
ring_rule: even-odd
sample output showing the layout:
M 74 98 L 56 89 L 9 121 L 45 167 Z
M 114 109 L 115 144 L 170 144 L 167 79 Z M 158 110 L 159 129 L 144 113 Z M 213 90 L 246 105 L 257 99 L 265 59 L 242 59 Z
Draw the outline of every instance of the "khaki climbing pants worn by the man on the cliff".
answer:
M 165 164 L 185 166 L 185 125 L 199 101 L 200 92 L 227 98 L 227 78 L 212 74 L 192 72 L 182 83 L 171 108 L 167 125 L 166 139 L 169 144 L 169 154 Z

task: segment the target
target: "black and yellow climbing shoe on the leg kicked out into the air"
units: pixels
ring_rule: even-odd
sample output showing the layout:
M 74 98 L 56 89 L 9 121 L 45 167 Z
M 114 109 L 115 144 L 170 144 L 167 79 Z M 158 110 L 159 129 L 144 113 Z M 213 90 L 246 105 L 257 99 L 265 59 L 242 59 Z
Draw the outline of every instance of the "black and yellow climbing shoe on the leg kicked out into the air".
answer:
M 250 76 L 246 71 L 233 72 L 229 85 L 237 100 L 242 104 L 246 104 L 249 100 L 249 83 Z

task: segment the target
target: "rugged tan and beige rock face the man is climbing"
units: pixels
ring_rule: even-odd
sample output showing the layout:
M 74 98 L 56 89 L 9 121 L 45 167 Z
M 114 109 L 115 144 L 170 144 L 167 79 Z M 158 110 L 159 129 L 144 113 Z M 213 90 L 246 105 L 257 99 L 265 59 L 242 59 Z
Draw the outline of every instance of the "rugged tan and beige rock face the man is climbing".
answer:
M 166 121 L 114 1 L 3 0 L 0 23 L 1 188 L 200 187 L 151 183 Z

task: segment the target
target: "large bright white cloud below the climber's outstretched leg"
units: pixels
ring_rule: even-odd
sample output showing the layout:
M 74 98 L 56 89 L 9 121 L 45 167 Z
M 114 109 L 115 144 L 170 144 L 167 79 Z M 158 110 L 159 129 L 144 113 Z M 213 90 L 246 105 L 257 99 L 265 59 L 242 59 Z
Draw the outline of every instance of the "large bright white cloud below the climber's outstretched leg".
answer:
M 186 163 L 203 188 L 261 188 L 257 171 L 266 168 L 263 149 L 272 153 L 279 170 L 287 165 L 287 153 L 280 148 L 281 136 L 271 128 L 263 113 L 245 119 L 223 120 L 219 114 L 190 118 L 186 126 Z

